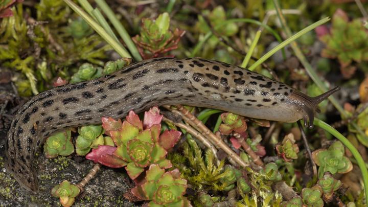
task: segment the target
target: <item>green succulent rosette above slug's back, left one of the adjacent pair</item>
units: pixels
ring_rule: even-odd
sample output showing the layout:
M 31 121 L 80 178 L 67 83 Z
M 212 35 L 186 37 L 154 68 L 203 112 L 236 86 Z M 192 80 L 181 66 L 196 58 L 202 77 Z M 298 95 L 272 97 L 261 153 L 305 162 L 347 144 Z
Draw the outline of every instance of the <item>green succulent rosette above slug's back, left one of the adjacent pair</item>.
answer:
M 102 74 L 101 67 L 95 67 L 90 63 L 83 63 L 79 66 L 78 72 L 72 76 L 71 83 L 77 83 L 100 77 Z

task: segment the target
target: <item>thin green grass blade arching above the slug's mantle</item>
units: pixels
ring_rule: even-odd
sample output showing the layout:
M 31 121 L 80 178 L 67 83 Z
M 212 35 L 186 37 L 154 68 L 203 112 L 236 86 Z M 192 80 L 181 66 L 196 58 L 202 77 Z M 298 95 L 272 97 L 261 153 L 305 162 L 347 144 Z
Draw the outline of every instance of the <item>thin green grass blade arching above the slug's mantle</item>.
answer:
M 216 25 L 215 26 L 215 30 L 220 29 L 221 27 L 228 25 L 230 23 L 233 22 L 244 22 L 244 23 L 250 23 L 250 24 L 254 24 L 254 25 L 258 25 L 258 26 L 262 26 L 264 27 L 267 31 L 269 31 L 279 42 L 282 42 L 282 39 L 280 37 L 280 35 L 274 31 L 272 28 L 270 28 L 268 25 L 263 24 L 260 21 L 254 20 L 254 19 L 248 19 L 248 18 L 239 18 L 239 19 L 228 19 L 226 21 L 221 22 L 221 24 Z M 203 48 L 203 44 L 210 39 L 210 37 L 213 35 L 213 33 L 210 31 L 208 33 L 206 33 L 204 35 L 204 37 L 198 41 L 198 43 L 196 44 L 196 46 L 194 47 L 190 57 L 195 57 L 197 55 L 197 53 L 199 52 L 200 49 Z

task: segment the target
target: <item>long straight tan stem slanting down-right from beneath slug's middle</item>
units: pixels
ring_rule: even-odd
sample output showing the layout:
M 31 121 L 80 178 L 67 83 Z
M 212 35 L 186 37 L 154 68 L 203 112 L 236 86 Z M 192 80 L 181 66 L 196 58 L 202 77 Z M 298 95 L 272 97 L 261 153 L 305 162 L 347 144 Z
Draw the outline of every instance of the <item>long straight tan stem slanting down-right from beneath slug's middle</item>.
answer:
M 235 162 L 237 164 L 239 164 L 241 167 L 247 167 L 248 164 L 246 164 L 244 162 L 244 160 L 242 160 L 240 158 L 239 155 L 237 155 L 232 149 L 230 149 L 223 141 L 220 137 L 216 136 L 214 133 L 212 133 L 212 131 L 210 131 L 201 121 L 199 121 L 189 110 L 187 110 L 186 108 L 184 108 L 181 105 L 177 105 L 176 108 L 183 113 L 184 116 L 186 116 L 187 118 L 189 118 L 189 120 L 192 121 L 192 123 L 194 124 L 195 127 L 199 128 L 200 131 L 202 132 L 202 134 L 206 137 L 209 137 L 209 139 L 215 143 L 216 147 L 221 148 L 223 151 L 225 151 L 229 157 L 231 157 L 232 159 L 235 160 Z M 192 125 L 193 126 L 193 125 Z

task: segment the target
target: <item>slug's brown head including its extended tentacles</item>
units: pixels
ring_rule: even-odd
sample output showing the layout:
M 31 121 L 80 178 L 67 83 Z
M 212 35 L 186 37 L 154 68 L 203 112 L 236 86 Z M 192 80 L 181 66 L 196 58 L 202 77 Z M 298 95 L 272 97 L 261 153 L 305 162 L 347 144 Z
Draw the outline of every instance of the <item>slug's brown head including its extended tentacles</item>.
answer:
M 309 128 L 313 127 L 314 111 L 319 112 L 319 109 L 317 108 L 318 104 L 338 90 L 340 90 L 339 86 L 316 97 L 306 96 L 299 91 L 294 91 L 292 93 L 290 98 L 292 99 L 293 104 L 297 105 L 303 113 L 304 126 L 308 126 Z

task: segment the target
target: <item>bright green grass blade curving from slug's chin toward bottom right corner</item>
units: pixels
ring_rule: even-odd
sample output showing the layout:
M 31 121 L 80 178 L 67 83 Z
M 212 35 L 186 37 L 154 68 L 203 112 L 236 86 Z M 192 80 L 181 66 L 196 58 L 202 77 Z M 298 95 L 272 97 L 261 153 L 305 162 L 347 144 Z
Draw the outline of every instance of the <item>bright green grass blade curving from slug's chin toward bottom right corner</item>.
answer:
M 329 132 L 330 134 L 334 135 L 340 142 L 342 142 L 342 144 L 344 144 L 349 150 L 350 152 L 353 154 L 354 158 L 356 159 L 356 162 L 360 168 L 360 171 L 362 173 L 362 177 L 363 177 L 363 183 L 364 183 L 364 190 L 365 190 L 365 202 L 368 201 L 368 170 L 365 166 L 364 160 L 361 157 L 360 153 L 358 152 L 358 150 L 354 147 L 354 145 L 349 142 L 349 140 L 344 137 L 340 132 L 338 132 L 336 129 L 334 129 L 333 127 L 331 127 L 330 125 L 328 125 L 327 123 L 325 123 L 324 121 L 321 121 L 317 118 L 314 119 L 314 125 L 326 130 L 327 132 Z

